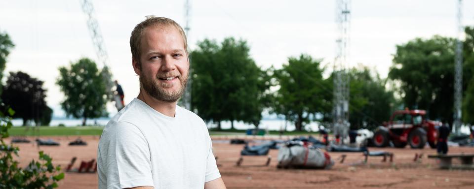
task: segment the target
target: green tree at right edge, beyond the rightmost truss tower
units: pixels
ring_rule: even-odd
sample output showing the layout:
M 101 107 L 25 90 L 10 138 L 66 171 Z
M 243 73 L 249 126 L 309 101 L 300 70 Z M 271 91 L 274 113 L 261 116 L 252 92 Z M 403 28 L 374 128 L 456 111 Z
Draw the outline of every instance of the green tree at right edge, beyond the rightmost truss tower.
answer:
M 474 27 L 466 27 L 465 32 L 463 83 L 467 89 L 463 97 L 463 121 L 474 124 Z

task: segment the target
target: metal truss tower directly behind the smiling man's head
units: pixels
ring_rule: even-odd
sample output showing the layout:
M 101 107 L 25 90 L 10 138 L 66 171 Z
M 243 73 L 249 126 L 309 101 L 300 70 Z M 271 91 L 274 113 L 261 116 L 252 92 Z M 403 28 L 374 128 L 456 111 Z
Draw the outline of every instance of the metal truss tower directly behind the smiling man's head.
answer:
M 188 53 L 190 53 L 190 34 L 189 31 L 191 30 L 190 28 L 190 11 L 191 11 L 191 4 L 190 0 L 186 0 L 186 3 L 184 5 L 185 7 L 185 19 L 186 19 L 186 26 L 184 28 L 184 31 L 186 32 L 186 37 L 188 38 Z M 191 58 L 189 57 L 189 77 L 188 77 L 188 84 L 186 85 L 186 91 L 184 93 L 182 100 L 182 103 L 184 107 L 188 110 L 191 110 L 191 86 L 193 84 L 193 74 L 192 74 L 193 69 L 191 69 Z M 192 110 L 191 110 L 192 111 Z

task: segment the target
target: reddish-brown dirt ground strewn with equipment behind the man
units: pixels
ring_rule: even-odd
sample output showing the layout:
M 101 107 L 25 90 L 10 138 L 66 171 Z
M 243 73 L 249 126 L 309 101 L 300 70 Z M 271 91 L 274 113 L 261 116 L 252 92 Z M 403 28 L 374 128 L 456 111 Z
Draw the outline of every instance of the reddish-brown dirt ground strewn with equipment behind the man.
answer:
M 235 136 L 233 136 L 235 137 Z M 242 136 L 245 138 L 245 136 Z M 89 161 L 97 156 L 98 136 L 82 136 L 87 146 L 68 146 L 77 137 L 41 137 L 60 142 L 60 146 L 41 146 L 34 143 L 15 144 L 20 147 L 20 166 L 26 166 L 31 159 L 38 159 L 40 150 L 53 158 L 55 165 L 65 168 L 71 158 L 77 157 L 74 168 L 80 161 Z M 369 157 L 363 163 L 361 153 L 329 153 L 336 161 L 329 170 L 314 169 L 277 169 L 278 150 L 271 150 L 270 166 L 265 166 L 267 157 L 244 157 L 241 166 L 236 166 L 243 145 L 229 144 L 225 136 L 212 137 L 214 153 L 218 157 L 219 170 L 228 189 L 313 189 L 313 188 L 367 188 L 367 189 L 472 189 L 474 188 L 474 170 L 440 170 L 437 160 L 427 158 L 435 154 L 428 146 L 413 150 L 395 148 L 369 148 L 371 151 L 385 150 L 395 154 L 394 162 L 381 162 L 382 157 Z M 34 141 L 34 138 L 29 138 Z M 260 141 L 261 138 L 248 137 L 246 140 Z M 266 138 L 268 139 L 268 137 Z M 286 139 L 286 138 L 285 138 Z M 9 142 L 7 140 L 7 142 Z M 423 153 L 421 161 L 413 161 L 415 154 Z M 449 154 L 474 153 L 470 147 L 450 147 Z M 338 158 L 346 154 L 344 163 Z M 453 163 L 459 161 L 453 160 Z M 66 173 L 60 181 L 59 189 L 97 189 L 97 173 Z

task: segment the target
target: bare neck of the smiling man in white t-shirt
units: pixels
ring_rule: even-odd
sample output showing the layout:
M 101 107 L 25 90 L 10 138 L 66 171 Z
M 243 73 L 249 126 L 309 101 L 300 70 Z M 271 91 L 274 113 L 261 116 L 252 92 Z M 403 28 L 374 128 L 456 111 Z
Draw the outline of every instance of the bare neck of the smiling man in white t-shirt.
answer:
M 176 114 L 176 104 L 177 102 L 165 102 L 162 100 L 158 100 L 143 91 L 143 89 L 140 90 L 140 94 L 138 94 L 137 98 L 146 104 L 148 104 L 150 107 L 158 111 L 159 113 L 162 113 L 168 117 L 174 118 Z

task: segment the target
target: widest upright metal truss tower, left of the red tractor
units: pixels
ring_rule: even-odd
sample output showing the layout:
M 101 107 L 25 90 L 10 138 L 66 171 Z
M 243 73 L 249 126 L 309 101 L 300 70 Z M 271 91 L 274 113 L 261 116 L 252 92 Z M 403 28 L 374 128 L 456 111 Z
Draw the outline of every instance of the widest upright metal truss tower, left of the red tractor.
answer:
M 336 57 L 333 70 L 333 132 L 345 139 L 349 131 L 349 27 L 350 0 L 336 0 L 336 23 L 339 36 L 336 40 Z M 341 140 L 344 142 L 344 140 Z

